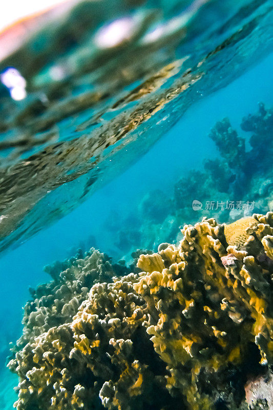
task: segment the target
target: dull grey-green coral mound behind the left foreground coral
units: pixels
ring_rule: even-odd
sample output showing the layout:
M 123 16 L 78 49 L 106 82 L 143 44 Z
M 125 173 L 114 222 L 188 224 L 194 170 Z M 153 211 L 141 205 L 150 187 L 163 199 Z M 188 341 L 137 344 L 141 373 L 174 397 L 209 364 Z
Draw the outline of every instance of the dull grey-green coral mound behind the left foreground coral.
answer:
M 129 273 L 124 264 L 111 264 L 106 254 L 94 248 L 85 254 L 79 249 L 75 257 L 44 270 L 53 281 L 30 288 L 32 300 L 25 305 L 23 335 L 13 347 L 14 354 L 53 326 L 70 322 L 94 283 L 111 282 L 113 276 Z

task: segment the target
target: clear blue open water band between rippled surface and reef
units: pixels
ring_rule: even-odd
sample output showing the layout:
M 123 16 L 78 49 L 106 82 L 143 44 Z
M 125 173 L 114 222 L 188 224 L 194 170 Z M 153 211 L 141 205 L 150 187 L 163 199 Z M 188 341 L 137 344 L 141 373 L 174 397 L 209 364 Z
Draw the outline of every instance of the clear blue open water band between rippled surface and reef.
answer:
M 136 155 L 112 180 L 109 178 L 104 185 L 101 180 L 97 190 L 82 203 L 77 203 L 77 207 L 70 213 L 65 216 L 60 214 L 60 218 L 50 227 L 40 230 L 34 236 L 20 236 L 17 247 L 11 247 L 3 253 L 0 258 L 3 278 L 0 289 L 1 408 L 10 410 L 16 399 L 16 394 L 12 391 L 12 386 L 17 384 L 16 377 L 11 376 L 5 368 L 8 343 L 15 342 L 22 333 L 22 307 L 29 298 L 29 286 L 36 288 L 38 284 L 50 279 L 43 267 L 54 260 L 71 257 L 77 248 L 86 251 L 90 247 L 106 252 L 116 261 L 122 258 L 129 261 L 131 245 L 128 245 L 128 238 L 122 241 L 122 235 L 118 240 L 117 232 L 138 229 L 140 222 L 135 215 L 138 214 L 145 195 L 160 190 L 165 198 L 172 197 L 175 184 L 188 171 L 202 170 L 205 159 L 219 157 L 214 142 L 208 138 L 209 131 L 217 121 L 228 117 L 232 127 L 241 135 L 242 118 L 249 113 L 256 113 L 259 102 L 266 107 L 273 106 L 273 54 L 272 50 L 269 51 L 271 53 L 265 52 L 257 61 L 251 61 L 251 65 L 230 78 L 228 84 L 215 87 L 212 93 L 196 87 L 194 92 L 198 94 L 198 98 L 177 121 L 171 119 L 166 109 L 153 125 L 156 128 L 157 123 L 158 126 L 164 123 L 166 131 L 160 138 L 154 138 L 149 149 L 140 150 L 141 155 Z M 168 121 L 169 126 L 165 126 Z M 113 157 L 110 161 L 112 160 L 119 161 L 120 158 Z M 99 175 L 98 178 L 102 177 Z M 74 180 L 74 186 L 76 182 L 77 179 Z M 203 182 L 200 180 L 200 184 Z M 189 195 L 190 203 L 195 199 L 199 200 L 195 192 Z M 213 199 L 221 201 L 221 193 Z M 58 200 L 61 201 L 61 197 Z M 253 198 L 249 197 L 247 200 L 252 201 Z M 213 216 L 213 211 L 211 213 Z M 202 214 L 197 211 L 196 221 L 201 217 Z M 145 229 L 149 232 L 152 229 L 150 222 L 144 222 Z M 152 223 L 151 221 L 151 226 Z M 134 240 L 132 244 L 135 243 Z M 161 238 L 154 237 L 153 240 L 156 244 L 161 242 Z M 176 240 L 174 237 L 173 241 Z M 135 241 L 138 248 L 145 248 L 146 242 L 141 235 Z

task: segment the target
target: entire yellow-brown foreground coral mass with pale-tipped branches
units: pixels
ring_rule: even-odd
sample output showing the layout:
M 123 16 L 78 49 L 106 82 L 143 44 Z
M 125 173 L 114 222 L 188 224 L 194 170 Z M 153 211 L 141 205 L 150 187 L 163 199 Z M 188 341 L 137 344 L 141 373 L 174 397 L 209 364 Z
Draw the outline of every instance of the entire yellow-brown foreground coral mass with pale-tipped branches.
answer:
M 182 234 L 178 246 L 141 254 L 134 273 L 90 281 L 70 320 L 24 331 L 9 363 L 18 410 L 247 408 L 247 386 L 266 385 L 273 361 L 273 213 L 203 219 Z M 256 396 L 250 406 L 272 408 L 270 394 Z

